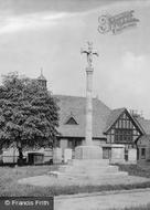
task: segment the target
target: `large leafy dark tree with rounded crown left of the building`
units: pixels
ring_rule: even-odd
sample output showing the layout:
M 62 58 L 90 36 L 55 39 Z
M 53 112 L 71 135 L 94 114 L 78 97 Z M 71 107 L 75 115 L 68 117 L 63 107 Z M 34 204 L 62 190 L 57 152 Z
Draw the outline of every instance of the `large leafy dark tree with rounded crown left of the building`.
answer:
M 0 146 L 23 149 L 53 147 L 58 126 L 58 107 L 52 94 L 35 80 L 18 73 L 3 76 L 0 86 Z

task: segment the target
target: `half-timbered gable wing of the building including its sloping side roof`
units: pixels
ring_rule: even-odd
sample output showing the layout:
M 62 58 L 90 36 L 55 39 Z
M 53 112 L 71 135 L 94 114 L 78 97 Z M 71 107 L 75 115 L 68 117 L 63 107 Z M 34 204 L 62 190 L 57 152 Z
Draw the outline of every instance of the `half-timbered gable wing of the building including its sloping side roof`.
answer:
M 143 129 L 126 108 L 119 108 L 108 116 L 104 134 L 108 143 L 133 144 L 143 134 Z

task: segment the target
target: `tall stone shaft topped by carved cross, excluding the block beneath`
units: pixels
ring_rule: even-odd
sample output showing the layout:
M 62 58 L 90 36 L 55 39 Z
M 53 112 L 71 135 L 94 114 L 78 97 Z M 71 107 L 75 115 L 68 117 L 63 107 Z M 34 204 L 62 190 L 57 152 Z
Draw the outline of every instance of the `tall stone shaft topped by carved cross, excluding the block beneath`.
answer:
M 93 145 L 93 56 L 97 55 L 97 52 L 93 52 L 93 43 L 87 42 L 88 49 L 82 50 L 82 53 L 87 55 L 88 66 L 86 67 L 86 128 L 85 128 L 85 145 Z

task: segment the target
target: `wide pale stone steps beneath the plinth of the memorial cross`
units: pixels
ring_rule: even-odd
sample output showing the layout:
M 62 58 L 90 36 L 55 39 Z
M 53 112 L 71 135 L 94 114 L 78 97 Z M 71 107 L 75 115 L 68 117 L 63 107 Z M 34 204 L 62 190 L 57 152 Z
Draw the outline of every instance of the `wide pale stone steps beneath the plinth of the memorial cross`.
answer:
M 68 161 L 68 165 L 61 166 L 58 171 L 51 171 L 49 175 L 75 179 L 117 179 L 128 177 L 128 172 L 119 171 L 117 166 L 110 166 L 107 159 L 73 159 Z

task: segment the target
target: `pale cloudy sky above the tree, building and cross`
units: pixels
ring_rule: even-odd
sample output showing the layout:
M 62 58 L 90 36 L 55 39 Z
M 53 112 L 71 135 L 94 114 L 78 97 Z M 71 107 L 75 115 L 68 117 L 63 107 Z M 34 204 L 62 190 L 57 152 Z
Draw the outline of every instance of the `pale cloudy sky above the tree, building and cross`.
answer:
M 98 32 L 98 18 L 133 10 L 136 28 Z M 0 75 L 36 78 L 53 94 L 85 96 L 86 42 L 94 57 L 93 96 L 150 118 L 150 0 L 0 0 Z

